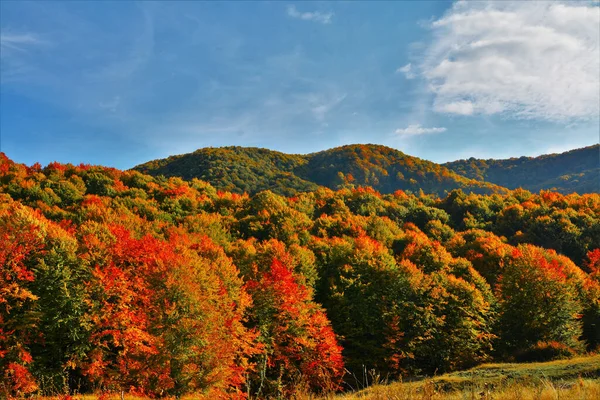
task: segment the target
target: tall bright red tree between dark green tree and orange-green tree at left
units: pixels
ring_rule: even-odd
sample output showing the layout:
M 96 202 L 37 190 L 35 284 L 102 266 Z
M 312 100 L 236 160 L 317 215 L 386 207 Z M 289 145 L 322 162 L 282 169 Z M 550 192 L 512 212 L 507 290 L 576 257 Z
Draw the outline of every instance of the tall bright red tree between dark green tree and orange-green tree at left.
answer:
M 152 237 L 136 240 L 119 226 L 112 227 L 111 233 L 115 242 L 105 244 L 110 246 L 106 249 L 110 258 L 93 271 L 101 289 L 95 295 L 99 308 L 91 338 L 98 350 L 91 354 L 84 373 L 104 385 L 133 386 L 138 392 L 146 392 L 156 382 L 169 389 L 173 387 L 169 366 L 156 357 L 164 343 L 151 328 L 152 319 L 159 317 L 154 285 L 174 254 Z

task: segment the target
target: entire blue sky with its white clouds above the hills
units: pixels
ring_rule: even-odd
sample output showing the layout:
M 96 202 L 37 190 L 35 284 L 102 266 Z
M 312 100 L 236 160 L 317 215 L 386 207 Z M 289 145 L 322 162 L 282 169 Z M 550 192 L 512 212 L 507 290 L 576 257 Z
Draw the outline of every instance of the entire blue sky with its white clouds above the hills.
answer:
M 2 151 L 130 168 L 206 146 L 443 162 L 598 143 L 597 2 L 0 3 Z

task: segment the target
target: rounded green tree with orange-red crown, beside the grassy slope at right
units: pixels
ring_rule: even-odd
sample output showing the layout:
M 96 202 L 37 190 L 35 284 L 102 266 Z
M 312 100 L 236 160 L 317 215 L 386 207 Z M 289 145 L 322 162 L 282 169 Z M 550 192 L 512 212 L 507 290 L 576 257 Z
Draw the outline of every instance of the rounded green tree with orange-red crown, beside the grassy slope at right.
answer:
M 498 285 L 500 348 L 507 355 L 535 351 L 538 342 L 579 349 L 583 310 L 576 277 L 552 253 L 531 245 L 514 249 Z

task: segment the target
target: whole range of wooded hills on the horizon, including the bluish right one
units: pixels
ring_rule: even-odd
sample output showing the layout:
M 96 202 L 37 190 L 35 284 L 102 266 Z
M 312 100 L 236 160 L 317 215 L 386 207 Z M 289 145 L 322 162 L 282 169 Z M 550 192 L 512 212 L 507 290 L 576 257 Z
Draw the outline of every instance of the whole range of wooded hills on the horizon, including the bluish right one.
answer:
M 600 165 L 594 165 L 593 160 L 596 148 L 588 146 L 539 157 L 469 158 L 437 164 L 377 144 L 344 145 L 309 154 L 227 146 L 200 148 L 132 169 L 154 176 L 198 178 L 220 190 L 237 193 L 271 190 L 288 196 L 319 186 L 371 186 L 382 193 L 405 190 L 437 195 L 454 189 L 504 193 L 518 187 L 536 192 L 554 189 L 562 193 L 596 193 L 600 192 Z M 582 154 L 584 160 L 579 162 Z M 543 173 L 544 168 L 550 172 Z

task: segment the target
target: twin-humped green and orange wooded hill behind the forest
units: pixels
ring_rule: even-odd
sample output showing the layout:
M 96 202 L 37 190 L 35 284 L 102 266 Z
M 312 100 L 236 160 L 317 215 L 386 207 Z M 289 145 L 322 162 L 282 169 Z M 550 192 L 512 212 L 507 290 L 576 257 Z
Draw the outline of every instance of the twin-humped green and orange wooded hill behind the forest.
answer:
M 221 190 L 283 195 L 310 191 L 372 186 L 382 193 L 410 190 L 443 195 L 453 189 L 487 194 L 506 189 L 465 178 L 448 168 L 380 145 L 349 145 L 308 155 L 247 148 L 203 148 L 138 165 L 135 170 L 167 177 L 198 178 Z

